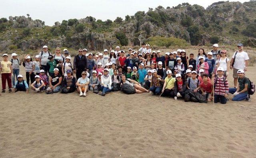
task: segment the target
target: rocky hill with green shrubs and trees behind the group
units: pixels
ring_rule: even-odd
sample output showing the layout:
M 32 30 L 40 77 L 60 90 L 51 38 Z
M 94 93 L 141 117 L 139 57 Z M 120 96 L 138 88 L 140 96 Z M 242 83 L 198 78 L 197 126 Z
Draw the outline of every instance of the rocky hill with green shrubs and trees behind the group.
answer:
M 80 20 L 57 21 L 53 26 L 32 20 L 27 14 L 26 17 L 0 19 L 0 51 L 35 50 L 42 45 L 102 50 L 116 45 L 140 45 L 141 41 L 161 47 L 217 42 L 226 45 L 242 42 L 255 47 L 255 25 L 255 0 L 243 4 L 221 1 L 206 9 L 188 3 L 172 8 L 158 6 L 149 8 L 148 12 L 127 15 L 124 20 L 117 17 L 114 21 L 102 21 L 88 16 Z M 138 39 L 140 34 L 141 41 Z M 161 41 L 157 41 L 158 36 Z

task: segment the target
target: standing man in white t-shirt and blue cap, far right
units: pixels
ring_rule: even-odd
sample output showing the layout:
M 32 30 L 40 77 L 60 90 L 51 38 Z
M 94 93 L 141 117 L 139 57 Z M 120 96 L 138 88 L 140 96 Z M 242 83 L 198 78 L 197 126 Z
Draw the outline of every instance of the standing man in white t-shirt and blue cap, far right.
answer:
M 230 69 L 233 69 L 233 78 L 234 78 L 235 88 L 237 85 L 237 78 L 238 78 L 237 71 L 240 69 L 247 71 L 247 66 L 249 62 L 248 54 L 243 51 L 243 45 L 240 43 L 237 45 L 237 48 L 238 48 L 238 51 L 234 53 L 230 61 Z

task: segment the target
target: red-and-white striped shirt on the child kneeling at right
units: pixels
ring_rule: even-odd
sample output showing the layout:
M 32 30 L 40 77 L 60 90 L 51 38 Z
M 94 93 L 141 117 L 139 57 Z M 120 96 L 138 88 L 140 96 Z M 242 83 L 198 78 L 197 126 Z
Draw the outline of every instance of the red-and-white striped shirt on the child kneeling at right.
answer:
M 217 79 L 217 81 L 216 81 Z M 224 83 L 224 76 L 221 78 L 219 76 L 214 77 L 213 83 L 215 85 L 214 94 L 224 96 L 225 93 L 228 94 L 228 80 L 225 78 Z

